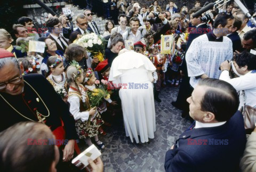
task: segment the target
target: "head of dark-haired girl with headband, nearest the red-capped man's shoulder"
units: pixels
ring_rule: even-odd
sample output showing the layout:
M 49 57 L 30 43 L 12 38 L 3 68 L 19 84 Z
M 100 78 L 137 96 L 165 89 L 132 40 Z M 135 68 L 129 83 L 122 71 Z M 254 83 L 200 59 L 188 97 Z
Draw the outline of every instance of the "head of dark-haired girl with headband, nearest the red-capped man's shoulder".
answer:
M 50 56 L 47 60 L 47 67 L 52 75 L 61 75 L 64 71 L 63 59 L 61 56 Z

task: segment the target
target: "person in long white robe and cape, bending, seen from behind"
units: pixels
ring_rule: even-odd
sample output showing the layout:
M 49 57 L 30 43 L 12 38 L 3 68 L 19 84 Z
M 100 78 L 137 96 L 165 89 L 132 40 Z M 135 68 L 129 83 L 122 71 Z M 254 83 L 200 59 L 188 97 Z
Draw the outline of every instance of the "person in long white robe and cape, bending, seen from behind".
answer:
M 156 131 L 152 84 L 156 68 L 145 55 L 134 51 L 120 53 L 111 65 L 109 80 L 122 86 L 119 96 L 126 136 L 139 143 L 139 135 L 141 143 L 145 143 L 148 138 L 154 138 Z

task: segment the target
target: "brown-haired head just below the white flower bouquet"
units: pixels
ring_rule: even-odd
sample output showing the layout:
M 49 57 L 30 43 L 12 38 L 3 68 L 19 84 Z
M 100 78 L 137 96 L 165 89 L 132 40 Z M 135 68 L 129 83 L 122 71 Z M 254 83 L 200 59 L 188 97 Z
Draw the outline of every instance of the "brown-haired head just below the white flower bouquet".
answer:
M 67 50 L 65 52 L 65 58 L 67 59 L 67 61 L 71 62 L 73 60 L 79 62 L 81 60 L 83 60 L 83 58 L 87 59 L 87 53 L 85 51 L 85 49 L 77 44 L 70 44 L 67 47 Z

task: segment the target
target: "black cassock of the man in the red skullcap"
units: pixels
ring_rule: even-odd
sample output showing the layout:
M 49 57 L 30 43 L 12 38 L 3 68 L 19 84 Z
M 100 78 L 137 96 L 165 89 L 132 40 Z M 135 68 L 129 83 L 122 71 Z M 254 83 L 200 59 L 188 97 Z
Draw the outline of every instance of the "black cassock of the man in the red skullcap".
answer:
M 35 89 L 50 111 L 50 116 L 46 118 L 45 124 L 49 126 L 51 130 L 54 130 L 61 126 L 61 117 L 66 131 L 66 138 L 77 139 L 75 120 L 69 112 L 69 107 L 55 92 L 49 81 L 47 81 L 43 75 L 39 74 L 28 74 L 23 78 Z M 26 83 L 23 93 L 19 95 L 10 95 L 6 93 L 1 93 L 1 95 L 21 114 L 34 121 L 38 121 L 34 110 L 35 108 L 37 108 L 37 110 L 44 116 L 47 116 L 48 114 L 41 99 L 39 99 L 39 102 L 36 101 L 38 96 Z M 22 117 L 11 108 L 2 97 L 0 97 L 0 108 L 2 110 L 1 113 L 6 117 L 4 120 L 0 121 L 0 132 L 17 122 L 28 121 L 28 119 Z

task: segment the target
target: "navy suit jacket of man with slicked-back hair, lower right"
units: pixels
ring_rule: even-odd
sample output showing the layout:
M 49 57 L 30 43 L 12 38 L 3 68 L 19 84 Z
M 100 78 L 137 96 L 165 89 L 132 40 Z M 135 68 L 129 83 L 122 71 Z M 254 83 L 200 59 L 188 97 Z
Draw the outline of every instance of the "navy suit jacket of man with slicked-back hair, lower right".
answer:
M 188 139 L 207 140 L 206 145 Z M 210 143 L 211 140 L 213 144 Z M 223 140 L 222 144 L 218 140 Z M 194 128 L 179 136 L 174 149 L 166 152 L 166 171 L 238 171 L 239 158 L 245 149 L 244 120 L 237 111 L 224 125 Z M 211 144 L 211 145 L 210 145 Z M 219 144 L 219 145 L 218 145 Z

